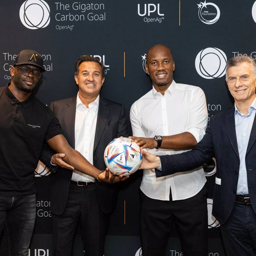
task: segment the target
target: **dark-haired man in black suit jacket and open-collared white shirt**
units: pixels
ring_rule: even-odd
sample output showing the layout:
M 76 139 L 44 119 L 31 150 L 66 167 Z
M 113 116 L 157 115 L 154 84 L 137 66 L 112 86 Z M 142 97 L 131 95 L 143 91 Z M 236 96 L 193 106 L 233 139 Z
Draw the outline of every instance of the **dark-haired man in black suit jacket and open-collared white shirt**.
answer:
M 103 64 L 83 55 L 75 64 L 78 94 L 50 104 L 69 144 L 100 170 L 106 168 L 103 154 L 107 144 L 128 135 L 124 107 L 99 95 L 104 80 Z M 52 164 L 66 166 L 62 156 L 54 155 Z M 50 198 L 54 255 L 72 255 L 80 223 L 85 255 L 102 256 L 116 189 L 76 170 L 61 169 L 53 174 Z

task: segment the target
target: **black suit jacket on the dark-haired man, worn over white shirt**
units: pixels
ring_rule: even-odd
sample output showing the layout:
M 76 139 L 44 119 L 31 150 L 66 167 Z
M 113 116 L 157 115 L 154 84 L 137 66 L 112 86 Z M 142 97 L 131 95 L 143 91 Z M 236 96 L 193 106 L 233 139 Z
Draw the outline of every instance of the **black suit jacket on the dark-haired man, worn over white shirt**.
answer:
M 50 109 L 59 119 L 63 135 L 72 148 L 75 148 L 76 97 L 50 103 Z M 117 137 L 127 137 L 126 114 L 124 107 L 116 102 L 100 97 L 94 138 L 93 162 L 99 170 L 105 170 L 104 150 L 108 143 Z M 51 211 L 63 214 L 68 199 L 72 170 L 59 168 L 53 174 Z M 114 210 L 117 200 L 116 186 L 96 181 L 96 191 L 102 212 Z

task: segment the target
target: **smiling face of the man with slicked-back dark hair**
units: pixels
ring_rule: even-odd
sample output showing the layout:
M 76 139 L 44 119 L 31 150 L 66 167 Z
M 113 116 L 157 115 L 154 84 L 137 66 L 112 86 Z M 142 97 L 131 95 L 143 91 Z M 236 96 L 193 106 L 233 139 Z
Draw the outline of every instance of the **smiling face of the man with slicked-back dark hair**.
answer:
M 75 75 L 75 81 L 79 87 L 79 95 L 84 98 L 96 98 L 100 93 L 104 80 L 101 66 L 97 62 L 82 62 L 79 66 L 78 75 Z

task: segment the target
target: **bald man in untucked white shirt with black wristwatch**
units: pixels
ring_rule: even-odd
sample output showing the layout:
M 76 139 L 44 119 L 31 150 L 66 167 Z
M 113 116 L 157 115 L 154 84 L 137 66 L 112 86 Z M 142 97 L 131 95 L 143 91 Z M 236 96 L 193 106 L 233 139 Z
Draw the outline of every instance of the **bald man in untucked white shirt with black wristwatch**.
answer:
M 204 92 L 199 87 L 177 84 L 173 80 L 172 52 L 162 44 L 149 49 L 145 68 L 153 89 L 131 107 L 133 137 L 130 138 L 154 155 L 192 149 L 203 138 L 207 126 Z M 156 178 L 154 170 L 144 170 L 140 186 L 143 256 L 165 256 L 173 222 L 183 255 L 207 255 L 205 183 L 202 166 L 160 178 Z

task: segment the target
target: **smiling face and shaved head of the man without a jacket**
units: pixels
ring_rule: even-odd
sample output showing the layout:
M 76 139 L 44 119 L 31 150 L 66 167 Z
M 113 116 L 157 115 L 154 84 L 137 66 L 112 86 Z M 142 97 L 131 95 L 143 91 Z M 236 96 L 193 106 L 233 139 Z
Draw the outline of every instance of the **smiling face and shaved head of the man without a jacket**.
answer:
M 156 90 L 164 86 L 167 89 L 172 83 L 175 69 L 171 50 L 161 44 L 150 48 L 147 53 L 145 68 Z

